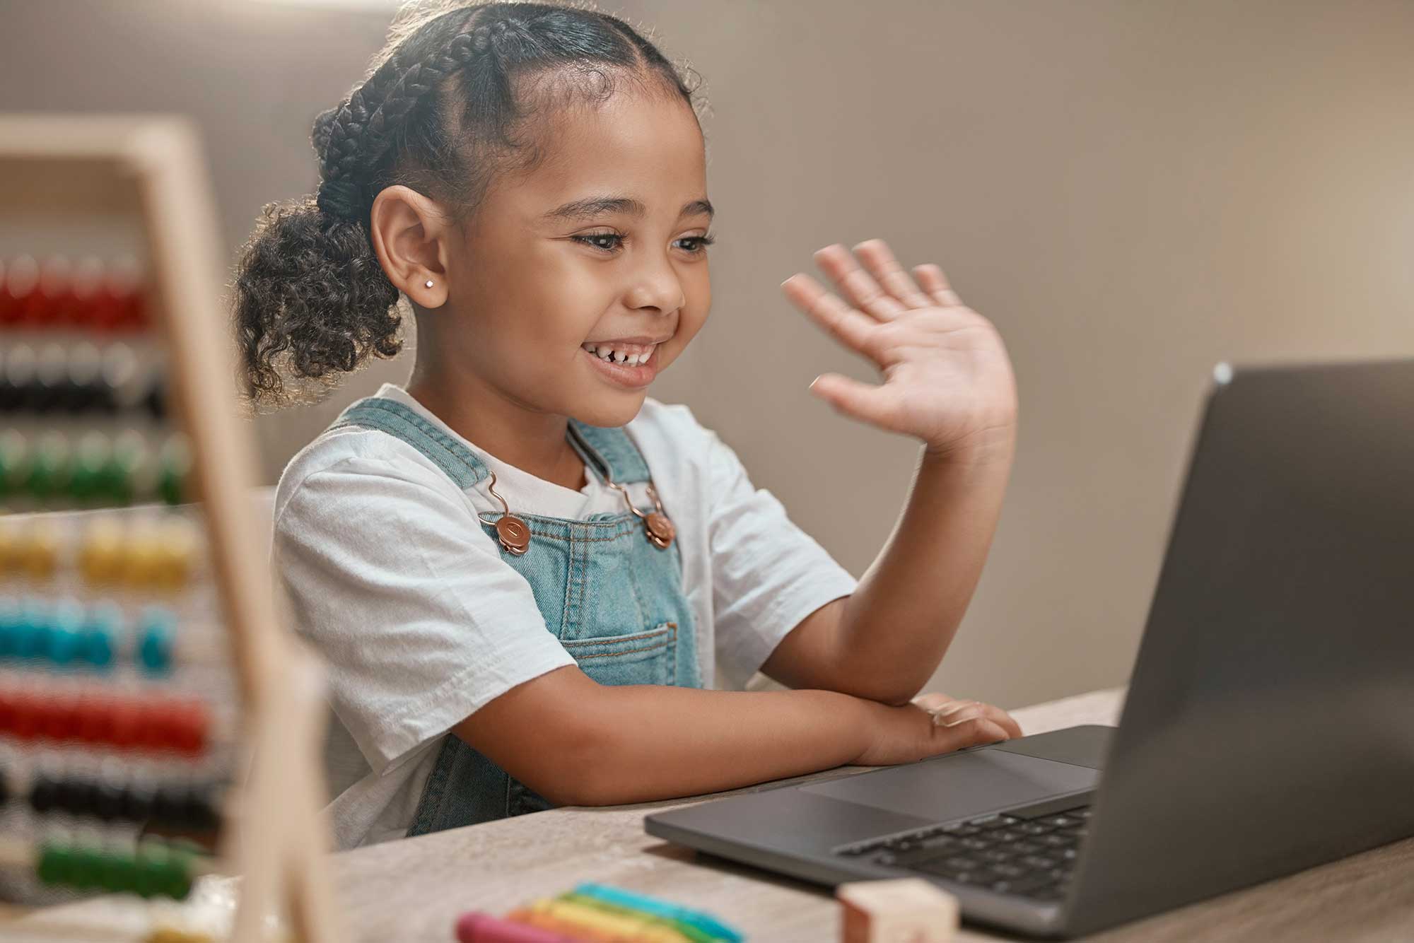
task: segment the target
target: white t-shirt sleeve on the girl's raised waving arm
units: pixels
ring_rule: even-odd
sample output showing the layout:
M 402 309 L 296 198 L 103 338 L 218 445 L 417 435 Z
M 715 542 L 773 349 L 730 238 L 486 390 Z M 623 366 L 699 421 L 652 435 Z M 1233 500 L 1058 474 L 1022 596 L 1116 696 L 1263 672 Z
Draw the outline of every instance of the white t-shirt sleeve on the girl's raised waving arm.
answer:
M 707 434 L 713 609 L 717 667 L 737 687 L 761 669 L 790 629 L 857 580 L 751 484 L 737 454 Z

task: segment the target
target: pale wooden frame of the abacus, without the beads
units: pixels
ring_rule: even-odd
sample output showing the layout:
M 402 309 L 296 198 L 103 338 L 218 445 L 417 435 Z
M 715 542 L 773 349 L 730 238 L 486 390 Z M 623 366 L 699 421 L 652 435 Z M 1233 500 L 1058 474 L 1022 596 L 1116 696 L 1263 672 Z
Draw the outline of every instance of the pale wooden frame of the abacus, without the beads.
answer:
M 0 211 L 141 221 L 173 414 L 191 443 L 230 640 L 240 737 L 259 755 L 236 821 L 223 831 L 223 857 L 245 875 L 230 939 L 264 940 L 266 916 L 283 910 L 300 939 L 342 942 L 320 814 L 322 673 L 284 628 L 249 512 L 255 443 L 238 421 L 222 253 L 198 134 L 165 116 L 0 116 Z

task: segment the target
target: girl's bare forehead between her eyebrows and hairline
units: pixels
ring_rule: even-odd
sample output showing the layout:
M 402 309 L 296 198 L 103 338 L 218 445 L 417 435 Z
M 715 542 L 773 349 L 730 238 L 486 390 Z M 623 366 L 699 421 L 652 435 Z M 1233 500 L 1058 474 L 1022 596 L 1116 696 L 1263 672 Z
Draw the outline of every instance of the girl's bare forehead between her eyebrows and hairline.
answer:
M 617 195 L 660 216 L 706 198 L 703 136 L 683 100 L 621 92 L 598 107 L 563 109 L 547 120 L 537 144 L 540 163 L 503 194 L 525 213 Z

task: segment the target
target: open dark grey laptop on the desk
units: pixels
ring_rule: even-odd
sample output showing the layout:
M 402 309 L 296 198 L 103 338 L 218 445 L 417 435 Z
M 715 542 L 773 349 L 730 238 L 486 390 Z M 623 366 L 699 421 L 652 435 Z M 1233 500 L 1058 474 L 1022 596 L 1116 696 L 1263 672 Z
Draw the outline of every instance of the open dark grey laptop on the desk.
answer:
M 1065 645 L 1039 639 L 1038 645 Z M 1414 836 L 1414 361 L 1219 365 L 1118 727 L 650 814 L 1066 937 Z

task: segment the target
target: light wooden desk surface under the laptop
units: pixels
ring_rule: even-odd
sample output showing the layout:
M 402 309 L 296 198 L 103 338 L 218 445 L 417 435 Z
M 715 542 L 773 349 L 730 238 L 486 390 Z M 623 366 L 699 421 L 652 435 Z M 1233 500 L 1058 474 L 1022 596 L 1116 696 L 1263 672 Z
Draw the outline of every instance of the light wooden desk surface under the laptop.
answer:
M 1121 697 L 1121 690 L 1094 691 L 1012 715 L 1027 734 L 1076 724 L 1114 724 Z M 799 780 L 846 772 L 851 771 Z M 829 891 L 715 858 L 699 860 L 693 851 L 643 831 L 645 813 L 701 800 L 556 809 L 356 848 L 334 857 L 334 881 L 352 939 L 368 943 L 447 943 L 452 940 L 452 922 L 464 910 L 503 913 L 516 903 L 560 894 L 587 879 L 710 910 L 756 943 L 837 940 L 839 905 Z M 221 894 L 219 885 L 214 889 Z M 112 910 L 106 918 L 105 910 L 103 899 L 89 901 L 0 929 L 7 940 L 31 939 L 30 932 L 35 940 L 54 940 L 52 932 L 59 926 L 96 930 L 107 923 L 112 932 Z M 89 936 L 81 930 L 81 937 L 122 939 L 110 932 Z M 1007 937 L 964 929 L 959 939 Z M 1414 840 L 1089 939 L 1104 943 L 1414 940 Z

